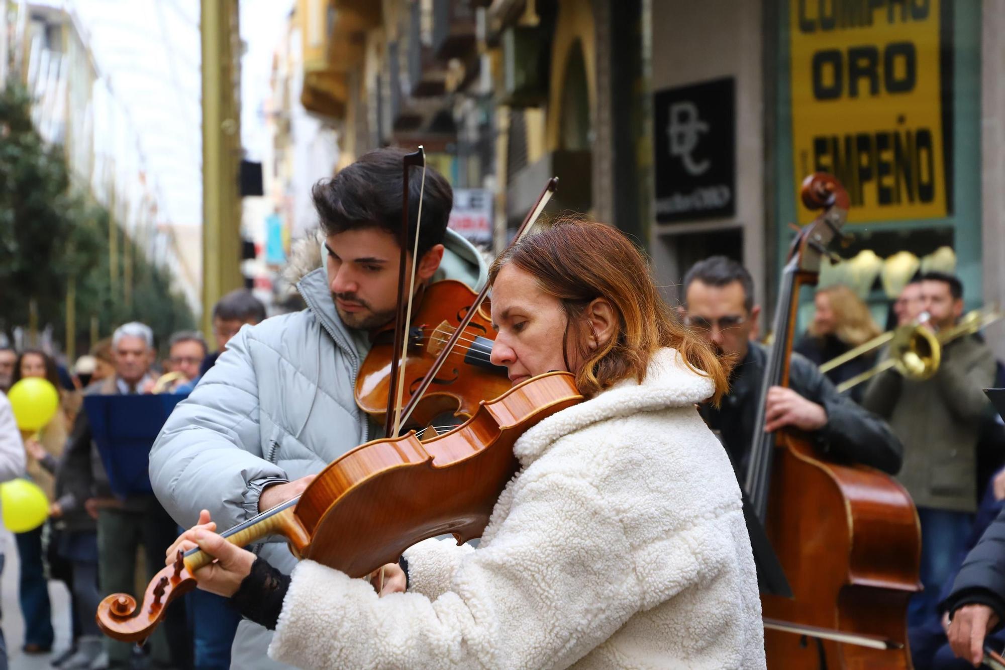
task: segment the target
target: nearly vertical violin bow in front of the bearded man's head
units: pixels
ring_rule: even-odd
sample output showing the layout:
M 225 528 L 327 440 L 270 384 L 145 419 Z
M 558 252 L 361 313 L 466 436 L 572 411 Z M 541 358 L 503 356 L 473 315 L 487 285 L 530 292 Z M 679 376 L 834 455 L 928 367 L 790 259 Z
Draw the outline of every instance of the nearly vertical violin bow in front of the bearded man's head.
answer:
M 398 231 L 398 308 L 394 319 L 394 355 L 391 356 L 391 383 L 387 390 L 387 412 L 384 420 L 384 437 L 394 438 L 401 428 L 401 398 L 405 390 L 405 360 L 408 355 L 408 337 L 406 333 L 412 318 L 412 300 L 415 296 L 415 269 L 419 260 L 416 258 L 419 248 L 419 226 L 422 223 L 422 194 L 426 187 L 426 152 L 419 145 L 418 151 L 406 154 L 402 161 L 402 193 L 401 193 L 401 229 Z M 412 252 L 412 273 L 409 289 L 405 294 L 405 255 L 408 248 L 408 172 L 412 168 L 422 168 L 422 183 L 419 188 L 419 206 L 415 221 L 415 244 Z M 399 358 L 398 353 L 401 352 Z M 399 366 L 399 362 L 401 364 Z M 399 369 L 400 367 L 400 369 Z

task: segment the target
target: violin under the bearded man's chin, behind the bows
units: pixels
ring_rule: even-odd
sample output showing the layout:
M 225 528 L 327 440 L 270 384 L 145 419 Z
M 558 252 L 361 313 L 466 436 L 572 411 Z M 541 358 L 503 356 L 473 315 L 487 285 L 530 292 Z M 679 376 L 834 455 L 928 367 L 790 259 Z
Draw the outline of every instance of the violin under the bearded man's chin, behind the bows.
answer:
M 454 280 L 435 282 L 426 288 L 408 330 L 408 357 L 404 361 L 406 398 L 417 390 L 475 297 L 465 284 Z M 496 397 L 510 388 L 506 368 L 488 361 L 495 337 L 491 323 L 488 305 L 483 303 L 464 328 L 443 367 L 433 377 L 428 391 L 415 405 L 410 425 L 429 426 L 435 416 L 444 412 L 470 416 L 477 409 L 477 400 Z M 385 421 L 394 356 L 389 334 L 387 331 L 375 336 L 356 377 L 356 403 L 381 423 Z

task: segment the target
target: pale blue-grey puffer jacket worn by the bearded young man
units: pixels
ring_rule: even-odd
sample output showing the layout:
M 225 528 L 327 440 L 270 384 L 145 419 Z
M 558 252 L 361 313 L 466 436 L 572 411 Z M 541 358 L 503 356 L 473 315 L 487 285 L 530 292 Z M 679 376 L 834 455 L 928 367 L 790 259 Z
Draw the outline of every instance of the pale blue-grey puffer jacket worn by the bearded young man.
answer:
M 447 230 L 447 249 L 434 280 L 484 284 L 478 252 Z M 208 509 L 217 527 L 258 513 L 262 488 L 321 472 L 349 450 L 374 439 L 353 393 L 366 351 L 342 323 L 324 268 L 297 289 L 308 309 L 245 326 L 216 364 L 168 418 L 150 453 L 150 481 L 182 526 Z M 292 571 L 296 559 L 280 540 L 260 555 Z M 269 660 L 271 633 L 242 621 L 231 655 L 234 668 L 286 667 Z

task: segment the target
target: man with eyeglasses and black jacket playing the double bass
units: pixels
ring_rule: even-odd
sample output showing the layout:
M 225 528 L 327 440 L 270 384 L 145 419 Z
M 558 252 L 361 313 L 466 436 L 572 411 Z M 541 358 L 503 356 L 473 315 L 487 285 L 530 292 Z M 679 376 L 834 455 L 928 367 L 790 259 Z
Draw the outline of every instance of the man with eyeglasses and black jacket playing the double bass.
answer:
M 768 358 L 767 350 L 751 341 L 761 315 L 761 307 L 754 304 L 754 282 L 736 261 L 714 256 L 687 271 L 682 290 L 684 322 L 720 355 L 736 358 L 729 394 L 721 406 L 706 404 L 700 411 L 721 436 L 737 478 L 744 481 Z M 900 469 L 903 449 L 886 423 L 839 394 L 813 363 L 797 353 L 790 362 L 789 384 L 769 389 L 766 430 L 799 429 L 831 458 L 890 474 Z

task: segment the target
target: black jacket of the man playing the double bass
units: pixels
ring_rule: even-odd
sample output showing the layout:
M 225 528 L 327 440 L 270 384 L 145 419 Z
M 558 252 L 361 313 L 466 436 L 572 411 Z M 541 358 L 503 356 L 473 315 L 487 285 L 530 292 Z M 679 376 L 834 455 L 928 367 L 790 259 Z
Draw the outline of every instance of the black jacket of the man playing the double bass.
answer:
M 730 392 L 719 408 L 701 406 L 709 427 L 719 431 L 742 482 L 747 472 L 757 418 L 757 402 L 768 352 L 752 343 L 730 379 Z M 797 353 L 789 366 L 789 385 L 808 400 L 823 405 L 827 425 L 814 436 L 822 453 L 836 460 L 872 466 L 891 475 L 900 469 L 903 448 L 882 418 L 841 395 L 817 366 Z

